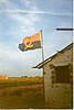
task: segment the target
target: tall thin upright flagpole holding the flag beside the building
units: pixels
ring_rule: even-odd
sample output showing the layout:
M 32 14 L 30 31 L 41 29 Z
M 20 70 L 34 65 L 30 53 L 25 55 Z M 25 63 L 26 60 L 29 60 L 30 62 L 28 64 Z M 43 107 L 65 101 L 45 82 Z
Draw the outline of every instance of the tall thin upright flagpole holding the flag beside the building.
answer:
M 40 32 L 41 32 L 42 62 L 44 63 L 44 50 L 43 50 L 43 35 L 42 35 L 42 30 Z M 43 64 L 43 95 L 44 95 L 44 105 L 45 105 L 44 64 Z

